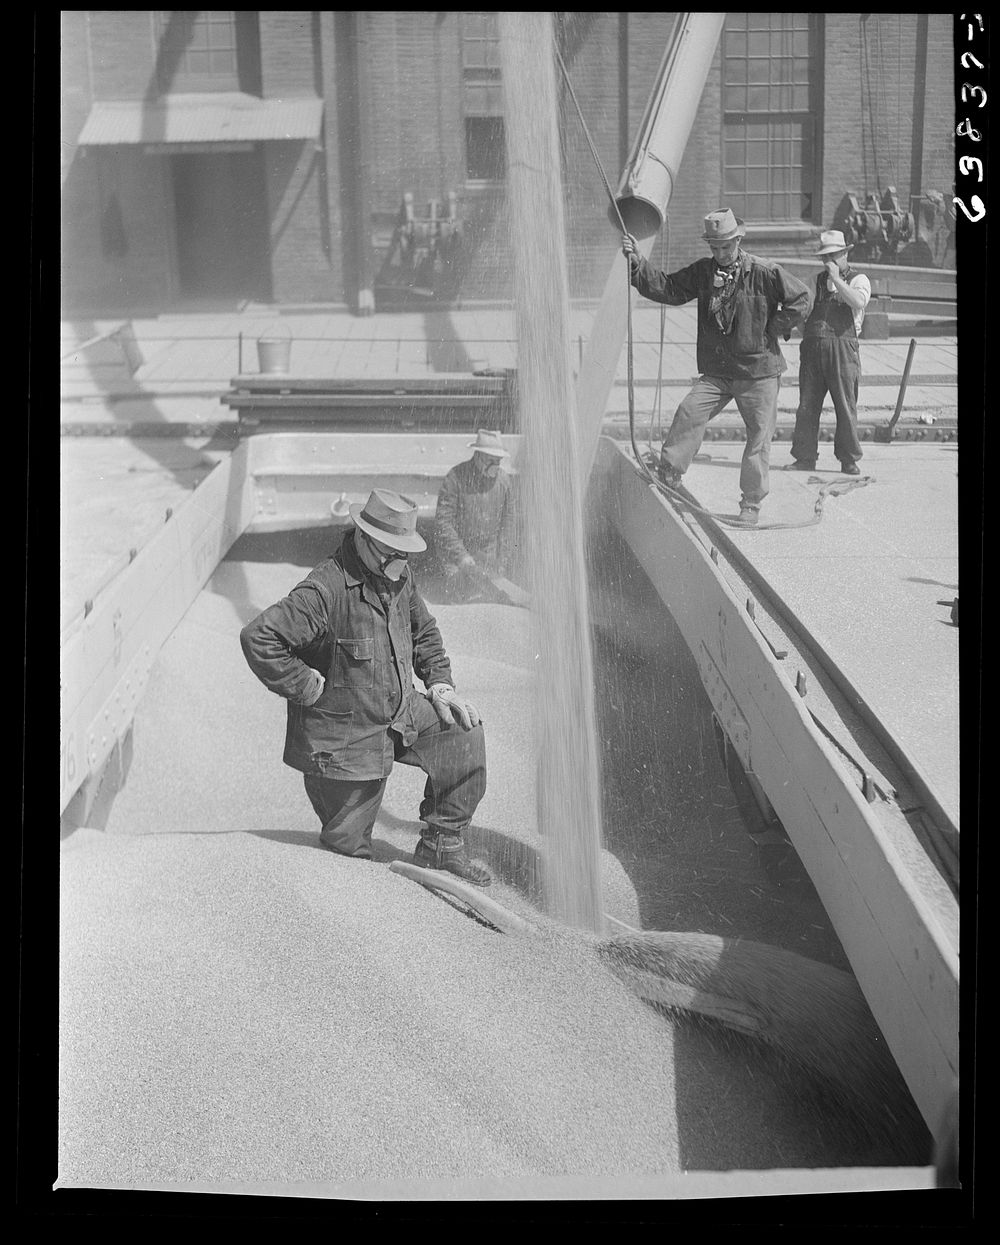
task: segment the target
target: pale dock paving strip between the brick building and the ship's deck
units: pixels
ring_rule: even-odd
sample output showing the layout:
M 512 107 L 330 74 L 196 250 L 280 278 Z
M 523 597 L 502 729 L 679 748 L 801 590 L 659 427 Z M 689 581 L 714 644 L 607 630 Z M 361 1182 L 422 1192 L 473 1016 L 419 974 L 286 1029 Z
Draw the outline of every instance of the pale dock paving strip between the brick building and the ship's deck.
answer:
M 594 304 L 570 310 L 578 356 L 593 330 L 594 311 Z M 635 408 L 645 426 L 656 411 L 669 422 L 696 375 L 695 316 L 692 306 L 664 309 L 661 349 L 660 309 L 635 299 Z M 122 327 L 122 336 L 102 336 Z M 517 366 L 511 308 L 467 306 L 362 317 L 339 308 L 252 305 L 242 311 L 65 320 L 60 342 L 62 431 L 148 435 L 157 430 L 210 432 L 234 426 L 233 412 L 219 397 L 234 376 L 259 370 L 257 342 L 262 336 L 288 336 L 291 374 L 305 377 L 406 380 Z M 909 336 L 907 329 L 904 336 L 862 344 L 862 421 L 882 423 L 892 415 Z M 783 345 L 788 370 L 778 400 L 780 436 L 793 422 L 800 345 L 798 337 Z M 609 401 L 609 430 L 620 431 L 628 413 L 626 366 L 623 350 Z M 659 402 L 658 377 L 663 388 Z M 956 416 L 958 341 L 954 336 L 918 336 L 899 430 L 919 425 L 932 430 L 927 436 L 933 437 L 935 426 L 943 435 Z M 832 428 L 832 420 L 829 408 L 823 417 L 824 432 L 827 425 Z M 735 408 L 719 416 L 715 427 L 738 430 Z

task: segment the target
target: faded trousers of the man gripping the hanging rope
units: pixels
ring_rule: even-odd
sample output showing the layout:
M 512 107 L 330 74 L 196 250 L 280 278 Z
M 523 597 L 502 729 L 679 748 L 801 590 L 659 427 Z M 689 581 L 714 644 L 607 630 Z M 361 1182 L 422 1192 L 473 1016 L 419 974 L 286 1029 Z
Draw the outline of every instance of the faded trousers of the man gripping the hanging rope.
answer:
M 660 462 L 674 471 L 687 471 L 705 437 L 709 421 L 735 400 L 746 425 L 740 489 L 743 503 L 758 509 L 770 489 L 768 463 L 771 439 L 778 422 L 780 385 L 780 376 L 763 376 L 755 381 L 730 380 L 725 376 L 699 377 L 674 413 L 660 449 Z

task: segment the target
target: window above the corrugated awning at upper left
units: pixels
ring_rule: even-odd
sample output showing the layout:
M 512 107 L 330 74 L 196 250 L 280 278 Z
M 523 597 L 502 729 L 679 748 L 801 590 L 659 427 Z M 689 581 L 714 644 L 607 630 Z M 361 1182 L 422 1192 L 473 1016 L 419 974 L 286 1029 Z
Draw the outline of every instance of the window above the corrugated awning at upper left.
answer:
M 154 16 L 161 91 L 259 91 L 257 12 Z

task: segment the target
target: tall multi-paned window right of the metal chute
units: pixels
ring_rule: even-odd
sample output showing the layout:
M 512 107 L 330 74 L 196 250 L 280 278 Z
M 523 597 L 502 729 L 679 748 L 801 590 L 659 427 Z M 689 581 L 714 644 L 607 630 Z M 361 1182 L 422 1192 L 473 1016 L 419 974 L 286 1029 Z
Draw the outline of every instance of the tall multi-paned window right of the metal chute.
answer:
M 817 15 L 731 12 L 722 35 L 722 189 L 746 220 L 812 220 Z

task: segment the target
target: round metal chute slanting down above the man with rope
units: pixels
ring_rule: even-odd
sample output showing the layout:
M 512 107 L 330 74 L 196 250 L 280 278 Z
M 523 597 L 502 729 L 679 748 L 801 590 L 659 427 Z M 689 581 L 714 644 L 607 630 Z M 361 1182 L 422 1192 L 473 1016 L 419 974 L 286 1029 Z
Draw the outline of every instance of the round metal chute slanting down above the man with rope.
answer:
M 677 15 L 615 195 L 626 225 L 634 218 L 649 227 L 650 208 L 655 214 L 653 232 L 666 218 L 725 20 L 724 12 Z

